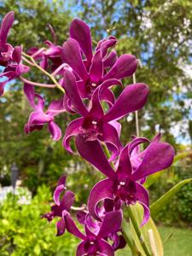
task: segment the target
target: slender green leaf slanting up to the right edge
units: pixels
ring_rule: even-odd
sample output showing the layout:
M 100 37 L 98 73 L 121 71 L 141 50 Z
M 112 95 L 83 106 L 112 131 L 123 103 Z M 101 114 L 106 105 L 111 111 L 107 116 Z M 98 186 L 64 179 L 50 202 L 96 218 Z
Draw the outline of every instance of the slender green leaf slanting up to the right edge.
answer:
M 160 212 L 160 209 L 172 199 L 172 196 L 174 196 L 179 191 L 179 189 L 183 187 L 184 184 L 187 184 L 191 181 L 192 178 L 184 179 L 180 183 L 177 183 L 177 185 L 175 185 L 168 192 L 166 192 L 166 194 L 162 195 L 157 201 L 154 201 L 154 203 L 150 206 L 151 215 L 153 216 Z

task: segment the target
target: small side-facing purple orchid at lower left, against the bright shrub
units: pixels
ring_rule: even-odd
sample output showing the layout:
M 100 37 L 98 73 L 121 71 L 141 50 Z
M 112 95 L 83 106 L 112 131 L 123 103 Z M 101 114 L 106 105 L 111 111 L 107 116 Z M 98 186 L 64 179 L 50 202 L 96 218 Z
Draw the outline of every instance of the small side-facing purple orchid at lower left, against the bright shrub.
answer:
M 72 191 L 66 191 L 66 177 L 63 176 L 59 179 L 57 183 L 57 187 L 54 192 L 54 201 L 55 205 L 51 207 L 51 212 L 45 213 L 42 215 L 41 218 L 47 218 L 50 222 L 55 217 L 60 217 L 61 219 L 57 221 L 56 228 L 57 234 L 56 236 L 61 236 L 64 234 L 66 229 L 65 219 L 62 218 L 63 211 L 69 211 L 70 208 L 73 206 L 74 202 L 74 193 Z M 61 193 L 65 192 L 60 200 Z

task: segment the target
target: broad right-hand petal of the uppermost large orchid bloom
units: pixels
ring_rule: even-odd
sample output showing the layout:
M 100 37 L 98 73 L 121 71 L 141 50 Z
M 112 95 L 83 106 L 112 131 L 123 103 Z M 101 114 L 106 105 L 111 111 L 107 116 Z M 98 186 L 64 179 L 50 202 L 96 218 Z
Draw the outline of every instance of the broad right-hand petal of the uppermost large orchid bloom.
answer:
M 137 69 L 137 59 L 133 55 L 120 55 L 109 72 L 102 78 L 106 79 L 124 79 L 130 77 Z

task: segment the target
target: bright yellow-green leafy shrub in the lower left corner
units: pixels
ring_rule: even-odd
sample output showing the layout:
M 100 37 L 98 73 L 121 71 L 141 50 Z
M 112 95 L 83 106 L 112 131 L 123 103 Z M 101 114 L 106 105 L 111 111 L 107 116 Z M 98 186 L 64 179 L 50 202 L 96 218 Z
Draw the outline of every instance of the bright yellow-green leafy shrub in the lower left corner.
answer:
M 49 212 L 51 194 L 44 185 L 38 188 L 38 194 L 30 204 L 22 205 L 20 195 L 9 195 L 1 205 L 0 212 L 0 254 L 2 256 L 24 255 L 73 255 L 77 241 L 73 236 L 56 237 L 55 220 L 48 223 L 41 214 Z

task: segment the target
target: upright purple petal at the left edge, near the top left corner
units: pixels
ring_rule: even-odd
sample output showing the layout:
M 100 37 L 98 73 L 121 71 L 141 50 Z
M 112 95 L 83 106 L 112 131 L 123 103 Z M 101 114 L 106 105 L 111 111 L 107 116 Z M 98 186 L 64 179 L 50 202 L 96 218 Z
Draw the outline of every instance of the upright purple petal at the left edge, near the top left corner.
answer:
M 5 44 L 7 42 L 7 37 L 9 29 L 14 23 L 14 11 L 10 11 L 7 15 L 4 16 L 2 20 L 2 25 L 0 28 L 0 42 Z

